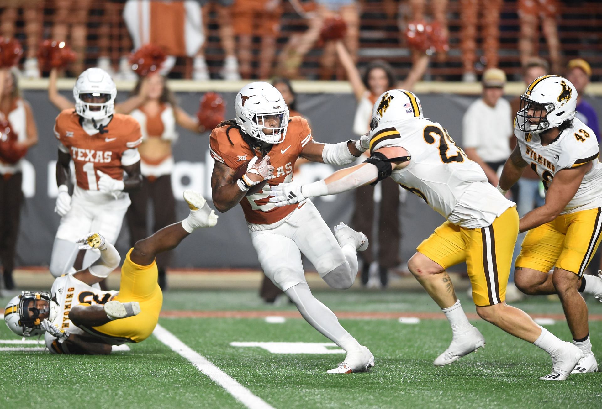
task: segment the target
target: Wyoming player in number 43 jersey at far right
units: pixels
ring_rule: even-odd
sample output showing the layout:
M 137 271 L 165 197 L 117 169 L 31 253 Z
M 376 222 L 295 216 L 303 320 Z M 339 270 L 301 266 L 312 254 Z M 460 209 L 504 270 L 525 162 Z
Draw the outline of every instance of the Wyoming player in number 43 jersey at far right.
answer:
M 498 189 L 505 193 L 527 166 L 544 182 L 544 206 L 520 220 L 520 231 L 529 232 L 514 280 L 526 294 L 559 295 L 573 343 L 585 354 L 573 371 L 579 374 L 598 370 L 588 307 L 579 292 L 602 301 L 602 275 L 583 275 L 600 244 L 602 164 L 596 135 L 574 117 L 576 101 L 573 84 L 560 76 L 544 75 L 529 85 L 514 125 L 517 147 L 504 165 Z

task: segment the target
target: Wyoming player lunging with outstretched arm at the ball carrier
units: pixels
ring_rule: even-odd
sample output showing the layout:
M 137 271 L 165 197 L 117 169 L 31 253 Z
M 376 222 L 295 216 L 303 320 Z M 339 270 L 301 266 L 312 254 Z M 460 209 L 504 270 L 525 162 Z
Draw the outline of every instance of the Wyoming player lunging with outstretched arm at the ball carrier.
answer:
M 515 204 L 487 182 L 439 123 L 423 116 L 420 100 L 406 90 L 382 94 L 372 111 L 371 157 L 324 180 L 273 186 L 271 201 L 290 205 L 306 197 L 337 194 L 391 176 L 447 221 L 417 248 L 408 268 L 452 325 L 452 343 L 435 359 L 452 363 L 485 345 L 456 298 L 447 267 L 466 262 L 479 316 L 550 354 L 553 369 L 541 379 L 564 380 L 583 356 L 579 348 L 539 327 L 505 303 L 512 250 L 518 235 Z

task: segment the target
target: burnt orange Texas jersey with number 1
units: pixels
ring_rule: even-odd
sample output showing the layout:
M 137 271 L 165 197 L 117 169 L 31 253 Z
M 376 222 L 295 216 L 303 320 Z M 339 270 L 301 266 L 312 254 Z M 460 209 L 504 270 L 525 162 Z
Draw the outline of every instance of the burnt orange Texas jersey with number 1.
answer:
M 54 125 L 55 137 L 69 149 L 75 164 L 77 185 L 85 190 L 98 190 L 97 170 L 122 180 L 123 152 L 142 142 L 138 121 L 128 115 L 114 114 L 104 128 L 107 132 L 88 135 L 79 118 L 73 109 L 65 109 L 58 114 Z

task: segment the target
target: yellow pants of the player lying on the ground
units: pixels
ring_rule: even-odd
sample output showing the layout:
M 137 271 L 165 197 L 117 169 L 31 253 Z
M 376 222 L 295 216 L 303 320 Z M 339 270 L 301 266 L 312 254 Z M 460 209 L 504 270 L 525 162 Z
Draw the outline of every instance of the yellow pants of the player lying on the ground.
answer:
M 99 327 L 86 328 L 105 339 L 122 342 L 140 342 L 149 337 L 157 325 L 163 304 L 163 293 L 157 284 L 157 263 L 141 266 L 132 262 L 128 251 L 121 267 L 119 294 L 113 300 L 122 303 L 138 301 L 140 313 L 128 318 L 115 319 Z

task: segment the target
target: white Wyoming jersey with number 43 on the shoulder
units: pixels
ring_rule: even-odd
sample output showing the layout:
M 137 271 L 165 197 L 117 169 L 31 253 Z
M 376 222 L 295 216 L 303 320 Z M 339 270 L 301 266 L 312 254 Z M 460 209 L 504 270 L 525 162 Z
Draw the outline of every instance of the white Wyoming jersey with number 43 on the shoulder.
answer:
M 560 214 L 595 209 L 602 206 L 602 164 L 598 162 L 600 147 L 596 135 L 577 118 L 573 125 L 560 132 L 552 143 L 542 146 L 537 134 L 523 132 L 514 121 L 514 135 L 524 161 L 541 177 L 545 191 L 556 173 L 592 162 L 592 168 L 583 176 L 577 193 Z

